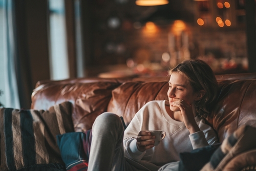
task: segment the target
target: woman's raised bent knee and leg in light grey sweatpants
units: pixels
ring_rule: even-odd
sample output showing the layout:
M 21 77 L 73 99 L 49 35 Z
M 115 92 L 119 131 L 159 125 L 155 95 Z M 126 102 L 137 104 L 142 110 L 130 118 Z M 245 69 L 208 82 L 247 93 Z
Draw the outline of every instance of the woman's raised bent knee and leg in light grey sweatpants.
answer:
M 99 115 L 92 128 L 88 171 L 129 170 L 123 152 L 123 125 L 116 114 Z

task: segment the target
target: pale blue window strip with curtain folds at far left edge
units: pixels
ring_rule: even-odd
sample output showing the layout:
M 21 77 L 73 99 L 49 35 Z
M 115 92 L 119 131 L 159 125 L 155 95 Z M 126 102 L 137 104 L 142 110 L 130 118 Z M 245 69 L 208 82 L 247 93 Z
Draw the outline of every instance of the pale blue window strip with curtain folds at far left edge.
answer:
M 15 26 L 13 1 L 0 0 L 0 101 L 6 108 L 19 108 L 18 88 L 14 68 Z

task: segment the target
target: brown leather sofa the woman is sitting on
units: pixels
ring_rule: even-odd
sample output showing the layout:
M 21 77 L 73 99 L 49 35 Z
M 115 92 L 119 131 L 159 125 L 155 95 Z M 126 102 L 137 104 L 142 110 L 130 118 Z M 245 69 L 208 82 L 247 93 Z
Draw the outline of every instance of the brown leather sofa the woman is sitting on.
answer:
M 219 96 L 207 122 L 223 142 L 242 125 L 256 127 L 256 73 L 217 75 L 216 78 Z M 80 132 L 91 129 L 95 118 L 103 112 L 122 116 L 127 125 L 146 102 L 167 99 L 167 90 L 168 77 L 38 81 L 31 109 L 47 110 L 56 103 L 71 101 L 74 130 Z M 256 166 L 256 163 L 247 163 L 253 164 Z M 239 170 L 242 166 L 236 168 Z

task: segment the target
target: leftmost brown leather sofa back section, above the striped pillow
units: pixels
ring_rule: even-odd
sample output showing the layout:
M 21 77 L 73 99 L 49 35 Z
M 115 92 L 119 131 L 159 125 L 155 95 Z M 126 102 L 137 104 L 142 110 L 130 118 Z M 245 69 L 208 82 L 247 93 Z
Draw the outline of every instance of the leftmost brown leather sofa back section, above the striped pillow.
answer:
M 37 87 L 32 94 L 32 109 L 48 109 L 50 106 L 70 101 L 74 106 L 72 115 L 74 130 L 85 132 L 92 129 L 95 118 L 106 112 L 112 90 L 121 83 L 117 81 L 92 82 L 73 80 L 52 81 Z

